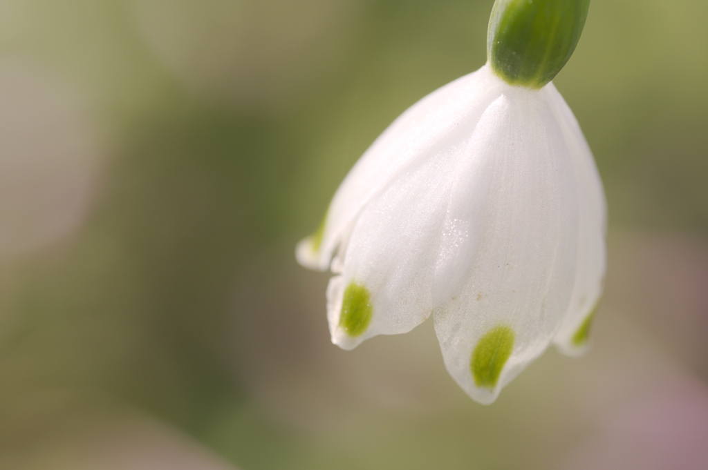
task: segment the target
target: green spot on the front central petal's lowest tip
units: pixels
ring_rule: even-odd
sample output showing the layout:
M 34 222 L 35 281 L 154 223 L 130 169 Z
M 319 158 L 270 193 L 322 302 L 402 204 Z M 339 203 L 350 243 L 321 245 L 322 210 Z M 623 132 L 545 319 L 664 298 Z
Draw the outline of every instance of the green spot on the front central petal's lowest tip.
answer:
M 477 387 L 493 389 L 514 347 L 514 331 L 500 325 L 487 331 L 472 351 L 470 369 Z

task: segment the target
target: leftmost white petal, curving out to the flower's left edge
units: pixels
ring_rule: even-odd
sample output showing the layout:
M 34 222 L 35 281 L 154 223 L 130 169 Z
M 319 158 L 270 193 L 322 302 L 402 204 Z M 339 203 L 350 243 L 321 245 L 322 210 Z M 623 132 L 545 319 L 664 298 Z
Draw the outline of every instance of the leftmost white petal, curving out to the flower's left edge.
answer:
M 299 261 L 326 270 L 337 256 L 331 269 L 341 272 L 346 245 L 362 208 L 411 165 L 444 151 L 450 139 L 469 134 L 471 129 L 461 124 L 474 126 L 498 96 L 499 86 L 498 78 L 483 66 L 435 90 L 401 114 L 350 170 L 327 211 L 319 249 L 314 249 L 312 240 L 303 240 L 301 243 L 310 243 L 309 252 L 306 247 L 299 248 Z

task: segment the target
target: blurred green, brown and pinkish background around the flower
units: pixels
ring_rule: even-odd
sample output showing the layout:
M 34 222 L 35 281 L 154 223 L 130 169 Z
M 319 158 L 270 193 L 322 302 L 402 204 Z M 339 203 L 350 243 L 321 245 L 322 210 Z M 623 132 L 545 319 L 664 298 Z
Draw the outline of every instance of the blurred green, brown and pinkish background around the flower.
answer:
M 300 268 L 492 0 L 0 2 L 0 469 L 700 469 L 708 4 L 593 0 L 557 88 L 609 204 L 587 356 L 481 406 L 432 323 L 329 342 Z

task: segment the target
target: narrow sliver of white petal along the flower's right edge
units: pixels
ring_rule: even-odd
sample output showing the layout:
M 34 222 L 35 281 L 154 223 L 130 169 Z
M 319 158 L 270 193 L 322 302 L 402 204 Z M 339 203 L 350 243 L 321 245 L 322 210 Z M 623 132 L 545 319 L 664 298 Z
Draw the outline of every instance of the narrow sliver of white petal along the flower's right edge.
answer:
M 588 327 L 603 290 L 607 210 L 603 184 L 590 147 L 565 100 L 552 85 L 542 90 L 552 105 L 568 145 L 578 191 L 579 230 L 576 282 L 569 311 L 554 343 L 567 355 L 582 353 Z

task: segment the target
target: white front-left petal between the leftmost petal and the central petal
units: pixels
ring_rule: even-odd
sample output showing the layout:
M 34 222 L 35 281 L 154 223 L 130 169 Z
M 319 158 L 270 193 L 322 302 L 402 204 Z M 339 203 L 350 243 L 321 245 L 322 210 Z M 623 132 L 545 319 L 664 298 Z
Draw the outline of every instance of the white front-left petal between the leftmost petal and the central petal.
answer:
M 455 146 L 431 155 L 399 175 L 362 210 L 343 274 L 331 281 L 328 292 L 333 343 L 351 349 L 377 334 L 411 331 L 428 318 L 433 310 L 432 266 L 450 200 L 448 181 L 464 156 Z M 350 331 L 341 318 L 350 308 L 343 308 L 342 300 L 351 283 L 365 289 L 369 298 L 370 323 L 362 331 Z

